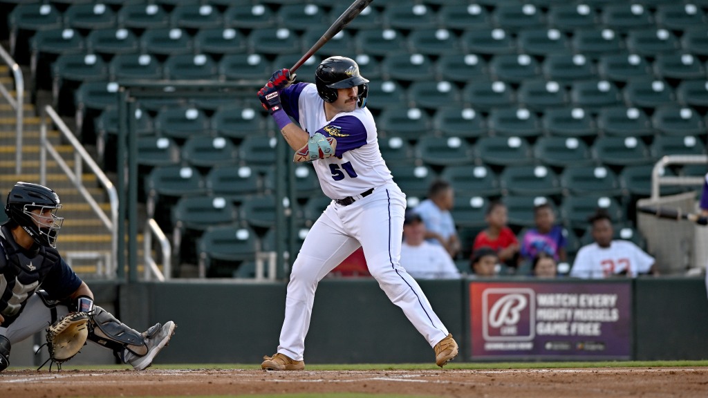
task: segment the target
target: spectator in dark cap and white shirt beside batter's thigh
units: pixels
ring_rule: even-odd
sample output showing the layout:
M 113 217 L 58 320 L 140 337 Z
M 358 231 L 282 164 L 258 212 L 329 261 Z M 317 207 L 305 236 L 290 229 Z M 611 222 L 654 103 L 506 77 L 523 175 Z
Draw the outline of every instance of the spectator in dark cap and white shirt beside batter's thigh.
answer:
M 438 244 L 426 241 L 426 224 L 411 210 L 403 222 L 401 266 L 415 279 L 459 279 L 459 271 L 450 254 Z

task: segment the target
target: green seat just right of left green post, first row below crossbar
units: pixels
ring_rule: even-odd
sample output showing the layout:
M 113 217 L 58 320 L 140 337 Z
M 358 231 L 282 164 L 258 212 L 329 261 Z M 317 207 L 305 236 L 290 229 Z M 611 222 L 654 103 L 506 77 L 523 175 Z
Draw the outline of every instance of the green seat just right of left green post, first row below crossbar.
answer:
M 186 140 L 209 132 L 209 118 L 204 111 L 192 107 L 164 108 L 157 113 L 155 130 L 159 135 Z

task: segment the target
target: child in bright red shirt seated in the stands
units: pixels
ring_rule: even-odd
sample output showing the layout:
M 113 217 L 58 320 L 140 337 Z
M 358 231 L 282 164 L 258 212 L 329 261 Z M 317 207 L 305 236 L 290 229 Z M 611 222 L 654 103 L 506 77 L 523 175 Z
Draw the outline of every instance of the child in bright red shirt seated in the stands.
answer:
M 514 232 L 506 225 L 507 217 L 506 205 L 498 200 L 489 203 L 484 217 L 487 227 L 474 238 L 472 251 L 484 246 L 490 247 L 496 250 L 499 261 L 516 268 L 520 245 Z

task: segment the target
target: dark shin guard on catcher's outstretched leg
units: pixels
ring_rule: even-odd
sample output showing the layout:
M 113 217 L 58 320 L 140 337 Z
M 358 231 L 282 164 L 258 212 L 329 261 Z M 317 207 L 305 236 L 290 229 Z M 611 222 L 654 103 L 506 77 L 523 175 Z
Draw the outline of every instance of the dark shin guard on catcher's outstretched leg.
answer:
M 98 307 L 98 305 L 95 308 L 93 315 L 90 317 L 91 326 L 93 327 L 89 331 L 89 340 L 113 351 L 122 352 L 124 348 L 127 348 L 137 355 L 145 355 L 147 353 L 145 339 L 139 331 L 130 329 L 130 327 L 113 317 L 110 312 Z

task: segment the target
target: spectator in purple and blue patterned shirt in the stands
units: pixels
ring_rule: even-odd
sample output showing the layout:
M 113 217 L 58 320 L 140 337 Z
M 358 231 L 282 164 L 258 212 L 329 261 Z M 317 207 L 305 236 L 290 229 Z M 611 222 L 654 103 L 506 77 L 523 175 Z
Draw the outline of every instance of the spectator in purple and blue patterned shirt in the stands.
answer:
M 534 207 L 535 228 L 529 229 L 521 241 L 521 257 L 530 264 L 539 254 L 548 254 L 555 261 L 566 261 L 566 237 L 563 227 L 556 224 L 556 215 L 549 203 Z

